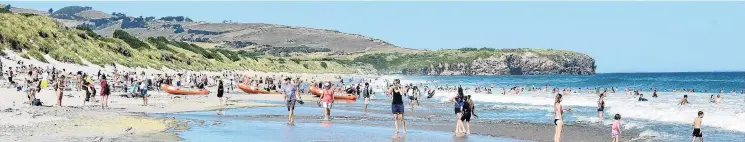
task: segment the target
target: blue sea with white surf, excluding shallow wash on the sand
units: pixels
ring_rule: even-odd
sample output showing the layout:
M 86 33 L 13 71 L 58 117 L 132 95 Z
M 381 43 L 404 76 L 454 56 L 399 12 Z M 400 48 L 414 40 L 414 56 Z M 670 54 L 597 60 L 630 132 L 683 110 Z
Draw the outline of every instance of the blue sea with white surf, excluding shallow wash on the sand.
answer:
M 605 118 L 597 117 L 597 94 L 574 93 L 565 95 L 562 105 L 574 111 L 565 116 L 571 123 L 608 126 L 610 135 L 611 115 L 621 114 L 624 129 L 642 131 L 642 136 L 652 141 L 690 141 L 692 122 L 698 111 L 705 113 L 704 138 L 707 141 L 745 141 L 745 73 L 619 73 L 588 76 L 386 76 L 400 78 L 402 83 L 424 85 L 462 85 L 465 87 L 489 86 L 498 88 L 543 87 L 560 88 L 610 88 L 619 90 L 605 99 Z M 384 84 L 380 82 L 379 84 Z M 646 102 L 627 95 L 626 88 L 641 89 Z M 660 90 L 652 98 L 649 88 Z M 676 89 L 695 89 L 697 93 L 672 92 Z M 719 94 L 719 90 L 725 90 Z M 730 93 L 737 90 L 736 94 Z M 593 89 L 594 91 L 594 89 Z M 706 91 L 703 92 L 703 91 Z M 476 110 L 483 119 L 511 120 L 531 123 L 552 123 L 554 95 L 544 92 L 522 92 L 518 95 L 466 92 L 476 102 Z M 680 106 L 683 95 L 688 95 L 690 105 Z M 711 95 L 722 95 L 722 104 L 709 102 Z M 447 103 L 455 92 L 438 91 L 433 99 Z

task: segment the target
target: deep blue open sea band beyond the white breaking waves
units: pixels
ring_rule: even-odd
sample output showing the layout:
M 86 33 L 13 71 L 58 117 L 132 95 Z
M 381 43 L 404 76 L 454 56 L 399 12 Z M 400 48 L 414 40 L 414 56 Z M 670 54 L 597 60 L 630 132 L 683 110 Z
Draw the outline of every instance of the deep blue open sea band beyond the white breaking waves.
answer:
M 535 75 L 535 76 L 386 76 L 403 78 L 402 83 L 426 83 L 437 81 L 438 85 L 489 86 L 495 87 L 571 87 L 571 88 L 636 88 L 649 91 L 658 88 L 662 92 L 674 89 L 695 89 L 697 92 L 725 93 L 745 89 L 745 72 L 682 72 L 682 73 L 608 73 L 597 75 Z

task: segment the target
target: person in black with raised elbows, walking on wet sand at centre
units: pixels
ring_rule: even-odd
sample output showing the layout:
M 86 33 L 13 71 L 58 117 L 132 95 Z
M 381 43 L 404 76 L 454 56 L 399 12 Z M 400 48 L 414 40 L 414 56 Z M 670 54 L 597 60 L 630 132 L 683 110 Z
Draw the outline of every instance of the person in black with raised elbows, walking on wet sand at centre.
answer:
M 396 127 L 396 133 L 393 138 L 398 138 L 398 124 L 401 123 L 404 135 L 406 135 L 406 121 L 404 120 L 404 100 L 402 91 L 406 91 L 406 88 L 401 87 L 401 80 L 393 80 L 393 87 L 390 88 L 393 100 L 391 100 L 391 111 L 393 112 L 393 124 Z

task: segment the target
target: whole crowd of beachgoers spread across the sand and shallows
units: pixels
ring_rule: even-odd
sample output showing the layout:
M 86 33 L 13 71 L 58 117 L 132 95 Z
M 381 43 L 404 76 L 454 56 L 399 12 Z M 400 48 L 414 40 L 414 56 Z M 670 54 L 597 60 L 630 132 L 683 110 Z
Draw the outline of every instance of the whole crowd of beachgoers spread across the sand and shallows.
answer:
M 342 77 L 337 77 L 338 82 L 331 81 L 303 81 L 299 77 L 289 77 L 285 75 L 272 75 L 272 76 L 249 76 L 239 74 L 237 72 L 225 71 L 221 75 L 210 76 L 199 72 L 183 72 L 177 74 L 146 74 L 145 72 L 133 72 L 133 71 L 118 71 L 114 69 L 113 72 L 102 72 L 99 70 L 96 73 L 87 73 L 82 71 L 68 71 L 65 69 L 57 69 L 54 67 L 36 67 L 34 65 L 24 64 L 22 61 L 15 62 L 17 67 L 3 67 L 3 63 L 0 62 L 0 76 L 7 78 L 5 87 L 14 88 L 17 91 L 26 92 L 29 99 L 30 105 L 41 105 L 41 102 L 36 99 L 36 95 L 42 91 L 54 91 L 56 94 L 56 106 L 63 106 L 63 96 L 66 91 L 79 91 L 82 90 L 83 94 L 83 105 L 86 103 L 95 102 L 99 103 L 102 108 L 108 107 L 109 96 L 114 93 L 123 93 L 127 97 L 141 97 L 143 99 L 143 105 L 148 105 L 148 91 L 160 91 L 161 85 L 173 85 L 182 88 L 195 88 L 205 89 L 205 87 L 217 87 L 217 97 L 220 99 L 220 104 L 227 104 L 228 99 L 223 99 L 224 94 L 235 90 L 237 83 L 244 83 L 248 86 L 261 88 L 266 91 L 280 92 L 284 95 L 285 105 L 288 110 L 288 124 L 294 124 L 294 110 L 296 103 L 302 104 L 301 94 L 310 93 L 311 87 L 320 88 L 323 93 L 319 95 L 320 99 L 318 105 L 324 109 L 323 120 L 331 120 L 331 109 L 334 104 L 335 94 L 355 94 L 361 96 L 360 99 L 364 100 L 364 111 L 367 113 L 368 104 L 370 99 L 374 97 L 373 88 L 370 83 L 373 80 L 352 80 L 346 81 Z M 284 82 L 280 81 L 283 80 Z M 309 79 L 305 79 L 309 80 Z M 227 81 L 227 83 L 225 83 Z M 354 82 L 354 83 L 353 83 Z M 462 86 L 451 86 L 444 84 L 440 86 L 432 86 L 420 84 L 401 84 L 399 79 L 393 80 L 391 84 L 379 86 L 379 89 L 385 90 L 386 96 L 391 100 L 391 112 L 394 118 L 395 126 L 395 137 L 399 135 L 399 128 L 401 128 L 403 134 L 406 134 L 406 121 L 405 121 L 405 106 L 404 99 L 409 99 L 410 107 L 418 106 L 419 100 L 427 95 L 427 98 L 432 97 L 435 91 L 443 92 L 456 92 L 456 95 L 449 100 L 454 104 L 455 113 L 455 135 L 464 136 L 471 134 L 470 122 L 471 117 L 478 118 L 474 109 L 474 101 L 471 95 L 466 95 L 465 92 L 474 93 L 487 93 L 493 94 L 495 86 L 490 84 L 489 87 L 478 85 L 473 88 L 462 87 Z M 174 85 L 175 84 L 175 85 Z M 227 87 L 225 87 L 227 85 Z M 564 112 L 572 111 L 572 109 L 564 108 L 561 105 L 563 96 L 568 94 L 598 94 L 597 100 L 597 112 L 598 118 L 604 119 L 605 115 L 605 99 L 609 93 L 615 93 L 618 88 L 564 88 L 559 89 L 549 85 L 543 87 L 501 87 L 500 92 L 502 95 L 520 94 L 524 91 L 548 93 L 548 90 L 555 95 L 554 100 L 554 112 L 555 112 L 555 141 L 561 140 L 561 134 L 563 129 L 563 116 Z M 640 93 L 640 89 L 626 88 L 625 94 L 639 97 L 639 101 L 647 101 Z M 652 97 L 658 97 L 657 88 L 649 88 L 652 92 Z M 675 89 L 673 92 L 696 92 L 695 89 Z M 703 92 L 706 92 L 704 90 Z M 735 90 L 730 93 L 737 93 Z M 745 92 L 741 92 L 745 93 Z M 719 91 L 719 95 L 711 95 L 711 103 L 721 104 L 723 100 L 724 90 Z M 97 101 L 97 97 L 100 96 L 101 100 Z M 684 95 L 679 105 L 687 105 L 688 96 Z M 620 123 L 621 115 L 615 114 L 613 116 L 613 124 L 611 126 L 612 141 L 619 141 L 621 135 Z M 703 112 L 699 111 L 694 121 L 694 140 L 699 139 L 703 141 L 701 137 L 701 119 L 703 118 Z

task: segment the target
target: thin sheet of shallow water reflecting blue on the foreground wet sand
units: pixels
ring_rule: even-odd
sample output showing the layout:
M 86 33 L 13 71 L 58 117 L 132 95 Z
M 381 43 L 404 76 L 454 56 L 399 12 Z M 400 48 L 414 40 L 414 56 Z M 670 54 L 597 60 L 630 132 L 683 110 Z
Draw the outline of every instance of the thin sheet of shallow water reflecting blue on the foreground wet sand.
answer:
M 358 102 L 359 103 L 359 102 Z M 332 109 L 333 120 L 331 122 L 322 121 L 322 109 L 317 106 L 303 105 L 296 108 L 296 122 L 302 124 L 334 124 L 355 127 L 374 127 L 381 128 L 377 131 L 382 134 L 371 135 L 370 137 L 383 137 L 393 135 L 392 116 L 384 110 L 371 110 L 368 114 L 362 112 L 360 104 L 336 104 Z M 436 106 L 436 105 L 435 105 Z M 269 108 L 246 108 L 227 110 L 221 120 L 226 118 L 242 121 L 259 121 L 267 123 L 286 122 L 286 110 L 283 107 Z M 443 115 L 449 115 L 447 112 L 415 111 L 407 112 L 406 122 L 409 131 L 436 131 L 438 137 L 450 139 L 441 139 L 445 141 L 455 141 L 453 130 L 455 121 L 443 119 Z M 187 114 L 176 114 L 182 116 L 181 119 L 215 119 L 214 112 L 194 112 Z M 525 141 L 553 141 L 554 125 L 527 123 L 515 121 L 493 121 L 472 119 L 471 129 L 472 136 L 481 137 L 489 136 L 494 139 L 508 138 Z M 625 130 L 622 136 L 623 141 L 643 141 L 639 137 L 638 130 Z M 413 137 L 413 136 L 408 136 Z M 610 140 L 609 126 L 568 124 L 564 126 L 563 141 L 571 142 L 597 142 Z M 418 141 L 414 139 L 413 141 Z M 473 141 L 473 140 L 470 140 Z

